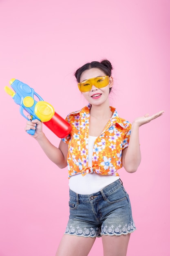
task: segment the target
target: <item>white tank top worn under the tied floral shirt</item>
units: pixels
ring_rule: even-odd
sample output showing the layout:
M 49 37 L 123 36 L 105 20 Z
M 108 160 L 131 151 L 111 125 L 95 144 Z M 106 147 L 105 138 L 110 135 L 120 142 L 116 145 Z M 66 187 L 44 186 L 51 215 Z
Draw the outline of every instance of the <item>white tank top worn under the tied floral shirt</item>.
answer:
M 88 166 L 92 166 L 93 146 L 97 137 L 88 137 Z M 89 195 L 101 191 L 105 186 L 119 180 L 119 176 L 88 173 L 73 175 L 69 179 L 69 187 L 72 191 L 82 195 Z

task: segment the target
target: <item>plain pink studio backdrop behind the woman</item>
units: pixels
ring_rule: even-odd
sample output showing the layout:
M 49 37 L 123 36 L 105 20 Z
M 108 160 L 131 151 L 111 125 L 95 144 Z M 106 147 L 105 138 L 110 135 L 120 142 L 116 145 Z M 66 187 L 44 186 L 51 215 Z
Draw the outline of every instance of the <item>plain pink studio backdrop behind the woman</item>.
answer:
M 67 168 L 26 134 L 4 86 L 19 79 L 66 117 L 86 105 L 73 73 L 103 58 L 115 68 L 110 104 L 121 117 L 165 110 L 140 128 L 138 171 L 119 173 L 137 226 L 127 256 L 170 256 L 169 0 L 0 0 L 0 256 L 54 256 L 68 220 Z M 102 256 L 101 239 L 92 255 Z

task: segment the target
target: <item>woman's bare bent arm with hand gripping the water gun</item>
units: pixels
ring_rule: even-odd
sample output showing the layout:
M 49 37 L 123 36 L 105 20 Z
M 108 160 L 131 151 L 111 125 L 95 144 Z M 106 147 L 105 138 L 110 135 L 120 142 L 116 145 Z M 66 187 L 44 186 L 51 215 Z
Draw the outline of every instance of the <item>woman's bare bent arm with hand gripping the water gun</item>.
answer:
M 62 140 L 60 141 L 58 148 L 51 144 L 51 142 L 47 139 L 44 132 L 42 131 L 42 123 L 37 119 L 26 122 L 25 130 L 30 129 L 35 129 L 35 134 L 31 135 L 31 137 L 34 137 L 38 141 L 39 145 L 41 146 L 47 157 L 49 157 L 49 159 L 58 167 L 66 167 L 68 144 L 64 143 Z

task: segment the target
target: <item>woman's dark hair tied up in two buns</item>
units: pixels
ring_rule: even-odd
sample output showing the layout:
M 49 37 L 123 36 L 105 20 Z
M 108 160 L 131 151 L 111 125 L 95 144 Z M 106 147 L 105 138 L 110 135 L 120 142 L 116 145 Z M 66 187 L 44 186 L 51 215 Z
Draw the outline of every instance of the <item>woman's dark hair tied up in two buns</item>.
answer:
M 108 61 L 108 60 L 103 60 L 101 62 L 92 61 L 91 63 L 84 64 L 82 67 L 79 67 L 79 69 L 76 70 L 75 77 L 77 79 L 77 82 L 79 83 L 80 76 L 85 70 L 90 70 L 93 67 L 99 68 L 100 70 L 104 71 L 106 76 L 111 76 L 111 71 L 112 71 L 113 67 L 112 67 L 110 61 Z

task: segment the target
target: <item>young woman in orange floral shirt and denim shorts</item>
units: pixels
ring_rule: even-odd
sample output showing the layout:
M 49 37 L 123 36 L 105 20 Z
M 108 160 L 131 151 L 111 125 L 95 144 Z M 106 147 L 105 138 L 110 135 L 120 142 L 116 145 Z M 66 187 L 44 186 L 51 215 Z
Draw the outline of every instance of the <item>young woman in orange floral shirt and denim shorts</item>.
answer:
M 141 162 L 139 127 L 163 111 L 136 118 L 132 125 L 110 107 L 113 87 L 109 61 L 93 61 L 75 76 L 89 102 L 67 116 L 71 134 L 53 146 L 38 120 L 27 121 L 25 130 L 60 168 L 68 166 L 70 216 L 56 256 L 87 256 L 96 237 L 102 237 L 104 256 L 126 256 L 130 233 L 135 231 L 130 200 L 117 171 L 137 171 Z

